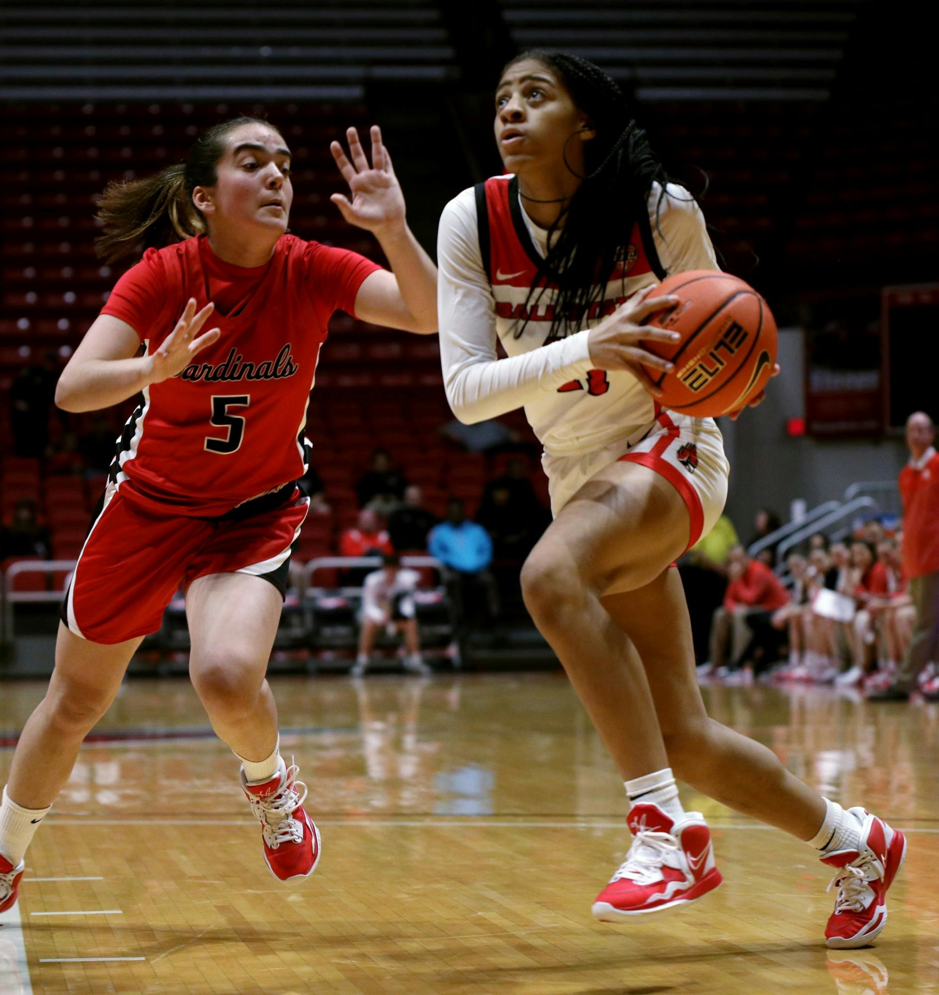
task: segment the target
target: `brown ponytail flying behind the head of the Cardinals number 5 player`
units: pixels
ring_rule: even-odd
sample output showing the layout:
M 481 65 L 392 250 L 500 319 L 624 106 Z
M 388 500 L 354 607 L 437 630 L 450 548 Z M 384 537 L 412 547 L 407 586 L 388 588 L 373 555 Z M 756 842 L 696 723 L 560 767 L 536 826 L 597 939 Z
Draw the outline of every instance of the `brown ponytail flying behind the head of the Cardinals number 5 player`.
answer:
M 186 167 L 167 166 L 155 176 L 108 183 L 97 206 L 104 234 L 94 242 L 105 263 L 130 256 L 142 244 L 159 248 L 205 231 L 186 193 Z

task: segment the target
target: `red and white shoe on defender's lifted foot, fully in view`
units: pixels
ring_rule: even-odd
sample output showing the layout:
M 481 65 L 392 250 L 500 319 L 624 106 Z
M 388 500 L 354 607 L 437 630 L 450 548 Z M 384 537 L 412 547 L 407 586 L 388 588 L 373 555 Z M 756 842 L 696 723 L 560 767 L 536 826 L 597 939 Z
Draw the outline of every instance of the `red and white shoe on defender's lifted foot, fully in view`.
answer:
M 250 782 L 244 768 L 241 773 L 251 810 L 261 820 L 265 862 L 281 881 L 306 878 L 319 863 L 319 830 L 303 811 L 306 785 L 296 780 L 298 773 L 299 767 L 287 767 L 282 759 L 277 773 L 267 781 Z

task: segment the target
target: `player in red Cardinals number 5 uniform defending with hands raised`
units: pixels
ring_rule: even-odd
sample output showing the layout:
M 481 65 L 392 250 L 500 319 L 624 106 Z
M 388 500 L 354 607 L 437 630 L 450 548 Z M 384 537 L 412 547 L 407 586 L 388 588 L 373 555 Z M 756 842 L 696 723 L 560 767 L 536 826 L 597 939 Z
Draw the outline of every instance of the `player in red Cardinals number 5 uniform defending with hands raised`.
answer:
M 140 242 L 163 248 L 148 249 L 118 281 L 56 400 L 91 411 L 143 399 L 118 440 L 63 608 L 49 691 L 23 729 L 3 792 L 0 911 L 16 900 L 27 845 L 82 740 L 180 584 L 192 682 L 241 760 L 268 867 L 282 881 L 316 867 L 319 835 L 298 770 L 281 759 L 265 680 L 290 545 L 309 501 L 295 483 L 306 468 L 306 404 L 337 308 L 437 329 L 436 269 L 405 222 L 377 127 L 371 137 L 371 165 L 354 128 L 351 161 L 332 143 L 352 192 L 351 201 L 332 200 L 374 233 L 392 272 L 285 234 L 290 152 L 263 120 L 216 125 L 185 166 L 103 196 L 105 258 Z

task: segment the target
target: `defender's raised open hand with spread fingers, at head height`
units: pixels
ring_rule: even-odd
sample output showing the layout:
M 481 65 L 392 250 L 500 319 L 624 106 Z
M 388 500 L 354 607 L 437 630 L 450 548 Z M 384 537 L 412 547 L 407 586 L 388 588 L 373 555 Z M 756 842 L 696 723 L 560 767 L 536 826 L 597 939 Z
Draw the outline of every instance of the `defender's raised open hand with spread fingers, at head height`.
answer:
M 398 177 L 395 176 L 388 149 L 382 144 L 381 128 L 377 124 L 371 127 L 371 165 L 359 141 L 358 130 L 350 127 L 345 134 L 349 142 L 349 155 L 345 154 L 338 141 L 329 143 L 329 151 L 349 184 L 352 200 L 341 193 L 334 193 L 329 199 L 350 225 L 366 231 L 377 234 L 403 225 L 404 194 Z

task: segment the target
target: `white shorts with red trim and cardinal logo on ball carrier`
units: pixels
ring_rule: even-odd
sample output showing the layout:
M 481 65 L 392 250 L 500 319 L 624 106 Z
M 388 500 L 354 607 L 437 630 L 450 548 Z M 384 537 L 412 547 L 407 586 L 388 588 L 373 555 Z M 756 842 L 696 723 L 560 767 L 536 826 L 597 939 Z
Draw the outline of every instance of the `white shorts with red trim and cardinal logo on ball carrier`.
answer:
M 720 430 L 710 419 L 662 411 L 653 427 L 601 449 L 575 456 L 541 458 L 548 475 L 551 511 L 562 507 L 596 474 L 618 460 L 655 470 L 684 499 L 690 519 L 687 549 L 706 535 L 727 500 L 730 466 Z

